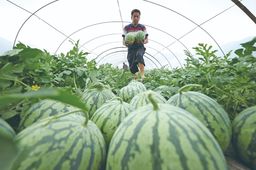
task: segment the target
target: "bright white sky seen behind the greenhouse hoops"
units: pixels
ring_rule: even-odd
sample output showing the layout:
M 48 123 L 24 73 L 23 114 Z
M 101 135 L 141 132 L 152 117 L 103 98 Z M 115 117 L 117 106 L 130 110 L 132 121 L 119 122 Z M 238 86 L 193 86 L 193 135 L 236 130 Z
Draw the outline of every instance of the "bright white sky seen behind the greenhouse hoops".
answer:
M 256 16 L 256 0 L 241 3 Z M 66 54 L 79 40 L 88 60 L 122 67 L 121 34 L 133 9 L 149 34 L 146 69 L 182 67 L 184 50 L 195 55 L 199 43 L 224 56 L 256 37 L 256 24 L 231 0 L 0 0 L 0 53 L 21 42 Z

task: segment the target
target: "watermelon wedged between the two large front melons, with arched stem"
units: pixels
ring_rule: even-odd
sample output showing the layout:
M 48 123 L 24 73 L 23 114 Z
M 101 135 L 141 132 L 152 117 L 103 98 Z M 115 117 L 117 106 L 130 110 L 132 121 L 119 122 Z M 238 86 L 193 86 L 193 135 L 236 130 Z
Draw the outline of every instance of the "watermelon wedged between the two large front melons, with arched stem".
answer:
M 115 99 L 119 101 L 114 101 Z M 107 149 L 116 128 L 120 125 L 121 121 L 134 110 L 134 107 L 127 102 L 123 102 L 120 97 L 113 98 L 96 110 L 91 120 L 100 128 Z

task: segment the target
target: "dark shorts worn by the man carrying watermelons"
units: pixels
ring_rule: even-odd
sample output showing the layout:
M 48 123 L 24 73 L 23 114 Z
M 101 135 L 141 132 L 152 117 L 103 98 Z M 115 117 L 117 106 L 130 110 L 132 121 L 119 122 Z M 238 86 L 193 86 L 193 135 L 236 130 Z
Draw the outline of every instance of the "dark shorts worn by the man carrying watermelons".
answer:
M 145 47 L 139 47 L 138 49 L 130 49 L 128 50 L 127 59 L 129 63 L 129 69 L 132 74 L 135 74 L 139 71 L 139 63 L 144 64 L 143 55 L 145 54 Z

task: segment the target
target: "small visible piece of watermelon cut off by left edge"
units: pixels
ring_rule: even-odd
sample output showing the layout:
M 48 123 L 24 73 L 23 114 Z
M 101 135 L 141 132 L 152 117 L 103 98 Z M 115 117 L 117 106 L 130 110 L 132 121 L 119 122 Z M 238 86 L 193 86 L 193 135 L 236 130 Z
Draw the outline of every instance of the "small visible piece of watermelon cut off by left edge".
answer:
M 2 120 L 0 118 L 0 137 L 5 138 L 5 139 L 13 139 L 15 136 L 15 132 L 5 120 Z

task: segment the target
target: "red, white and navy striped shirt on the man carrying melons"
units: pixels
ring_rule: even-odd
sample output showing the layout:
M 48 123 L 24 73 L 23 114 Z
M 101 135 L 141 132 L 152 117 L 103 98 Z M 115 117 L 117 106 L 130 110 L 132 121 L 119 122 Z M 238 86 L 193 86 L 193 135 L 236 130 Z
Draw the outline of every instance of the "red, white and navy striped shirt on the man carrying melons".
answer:
M 138 24 L 136 27 L 133 25 L 133 24 L 129 24 L 129 25 L 126 25 L 123 29 L 123 34 L 122 34 L 122 37 L 125 37 L 125 35 L 129 32 L 133 33 L 134 35 L 138 32 L 138 31 L 144 31 L 145 33 L 145 36 L 147 37 L 148 36 L 148 32 L 147 32 L 147 29 L 144 25 L 142 24 Z M 139 44 L 137 43 L 136 41 L 134 42 L 134 44 L 128 46 L 128 50 L 129 49 L 137 49 L 138 47 L 144 47 L 144 44 Z

